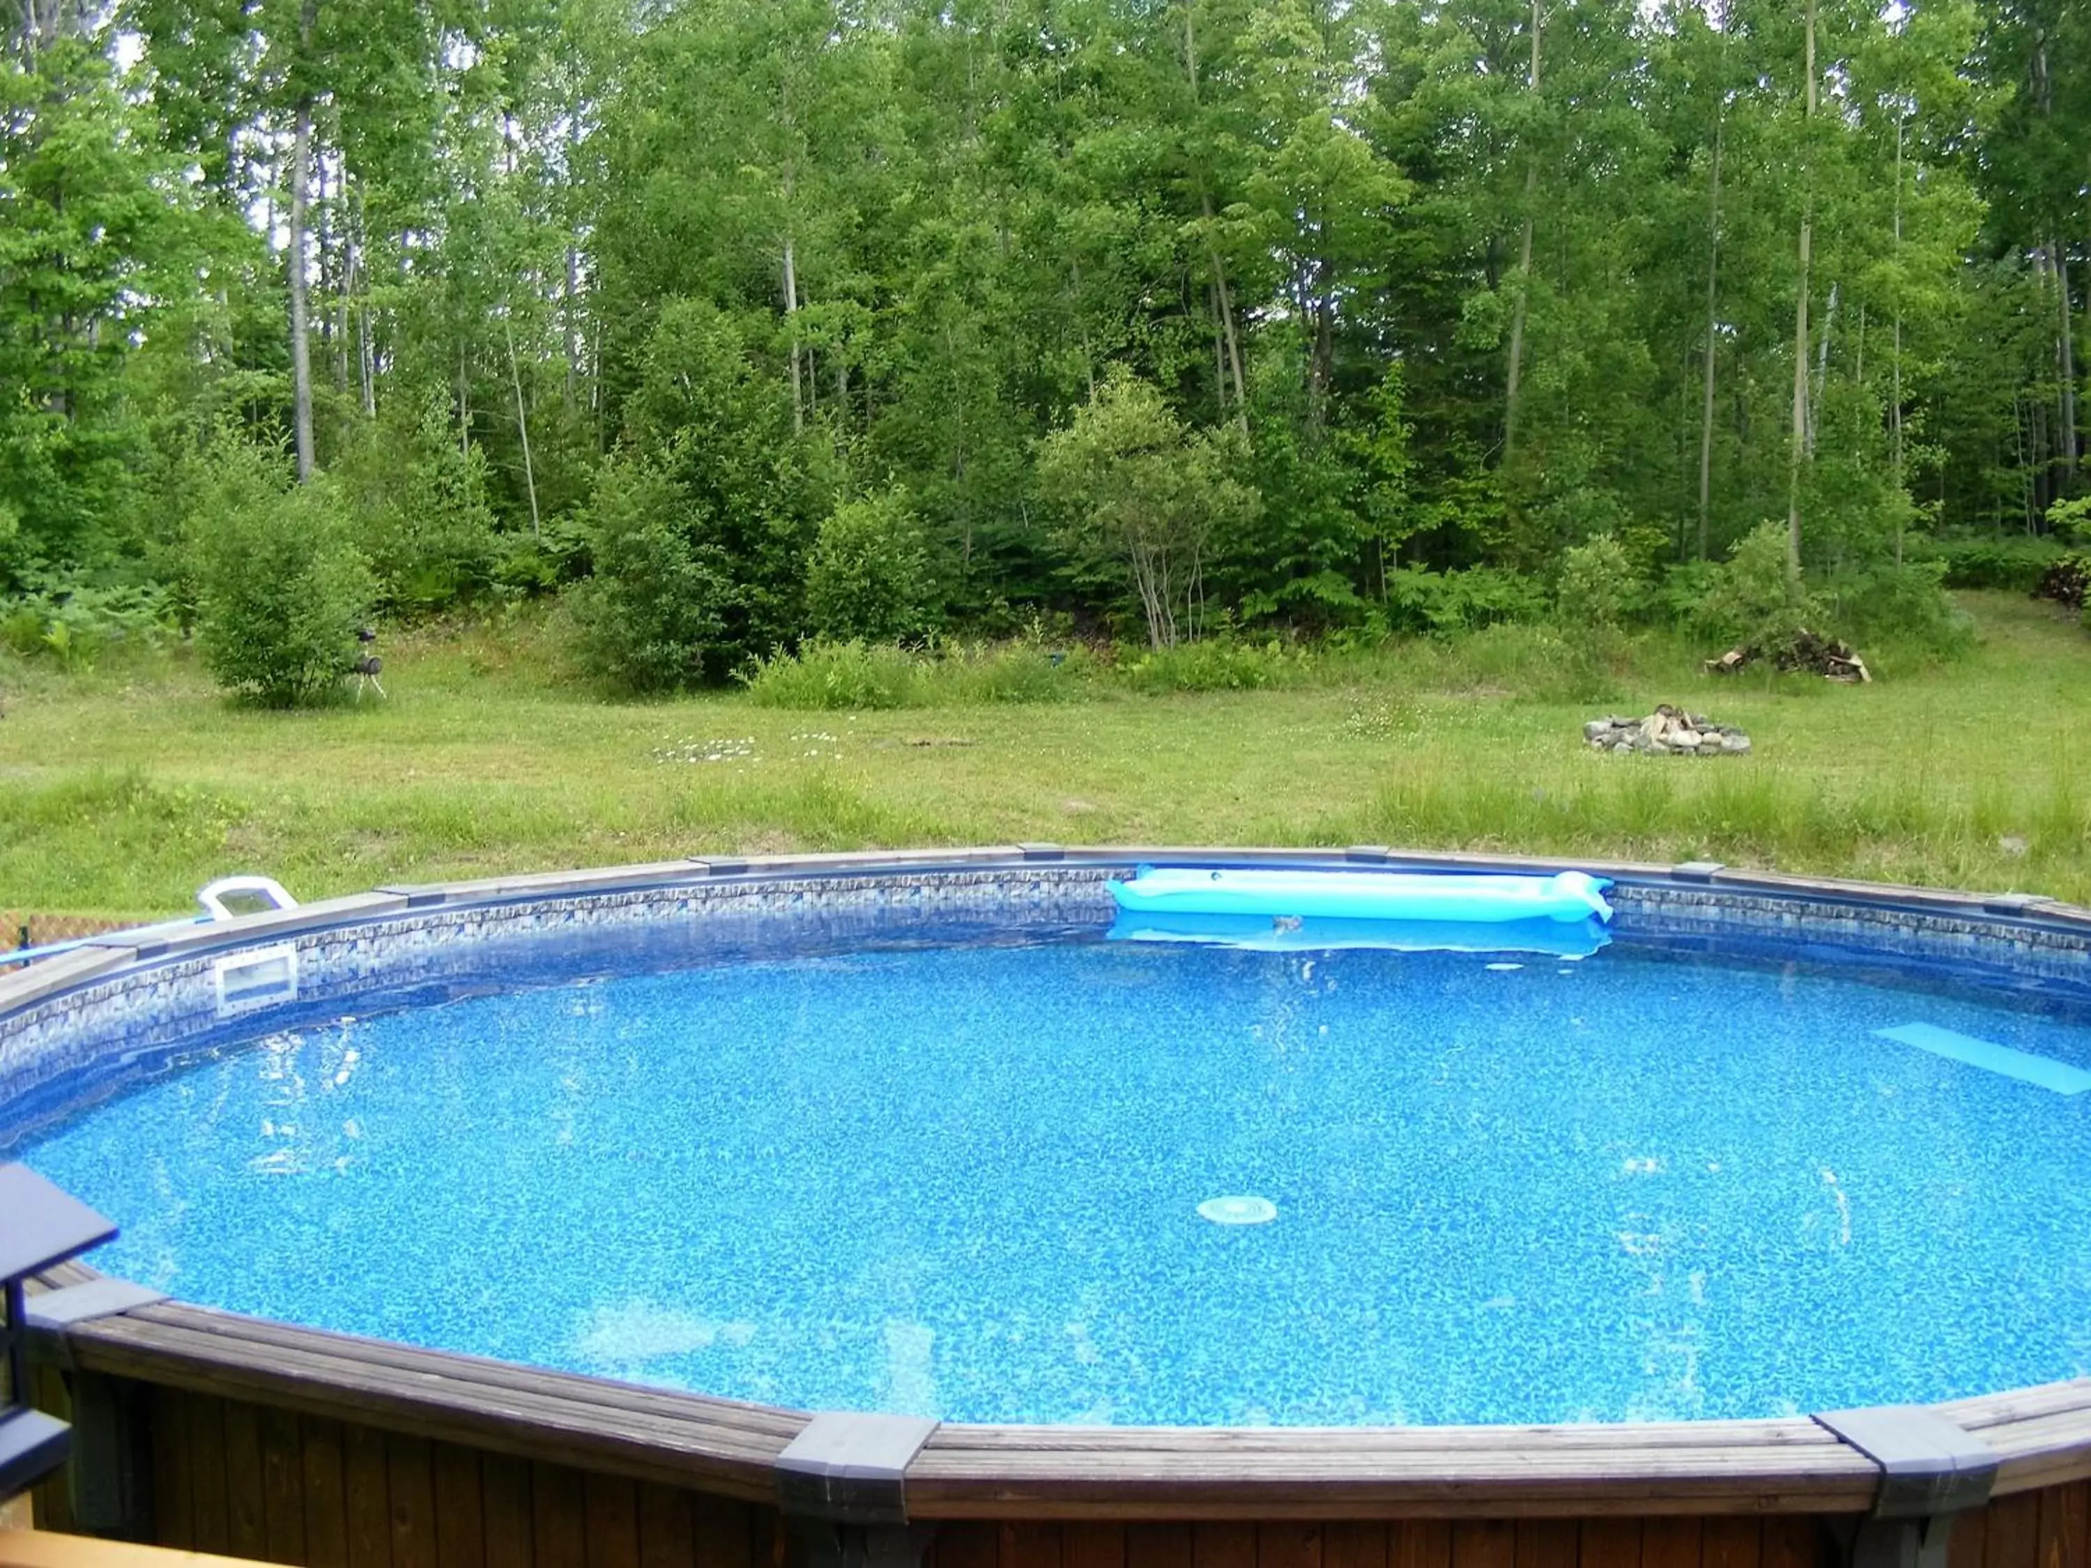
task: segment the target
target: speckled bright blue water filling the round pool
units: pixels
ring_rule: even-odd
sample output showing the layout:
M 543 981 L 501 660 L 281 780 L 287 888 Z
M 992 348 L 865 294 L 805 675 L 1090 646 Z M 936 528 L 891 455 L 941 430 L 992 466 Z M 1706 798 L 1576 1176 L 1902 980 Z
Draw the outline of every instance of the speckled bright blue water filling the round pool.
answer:
M 188 1300 L 782 1405 L 1775 1415 L 2091 1369 L 2091 1093 L 2012 1060 L 2091 1029 L 1625 945 L 918 947 L 228 1043 L 21 1154 Z

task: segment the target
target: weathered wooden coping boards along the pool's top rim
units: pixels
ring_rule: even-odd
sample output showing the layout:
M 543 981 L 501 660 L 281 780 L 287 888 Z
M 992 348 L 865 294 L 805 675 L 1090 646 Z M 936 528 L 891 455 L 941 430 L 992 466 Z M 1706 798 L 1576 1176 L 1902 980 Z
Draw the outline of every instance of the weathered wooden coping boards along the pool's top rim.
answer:
M 1284 861 L 1395 870 L 1591 870 L 1633 884 L 1694 884 L 2091 932 L 2091 912 L 2026 895 L 1731 872 L 1710 863 L 1591 863 L 1382 847 L 1064 849 L 690 859 L 594 872 L 389 886 L 220 926 L 115 937 L 0 976 L 0 1014 L 107 983 L 134 964 L 276 939 L 408 907 L 512 903 L 711 878 L 1039 863 Z M 61 1288 L 82 1265 L 50 1275 Z M 774 1503 L 778 1457 L 805 1411 L 542 1371 L 447 1351 L 295 1328 L 163 1300 L 52 1330 L 61 1365 L 345 1417 L 646 1482 Z M 2091 1378 L 1949 1401 L 1932 1411 L 1999 1457 L 1995 1491 L 2091 1478 Z M 907 1518 L 1284 1520 L 1595 1518 L 1648 1514 L 1863 1514 L 1882 1466 L 1807 1415 L 1746 1422 L 1416 1428 L 939 1426 L 903 1470 Z

